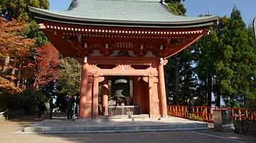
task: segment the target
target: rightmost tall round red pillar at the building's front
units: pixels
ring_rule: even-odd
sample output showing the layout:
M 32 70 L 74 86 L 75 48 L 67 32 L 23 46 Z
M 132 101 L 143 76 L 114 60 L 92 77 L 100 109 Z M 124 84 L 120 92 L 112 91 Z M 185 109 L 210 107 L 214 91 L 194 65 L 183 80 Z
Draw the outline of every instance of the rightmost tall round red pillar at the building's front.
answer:
M 168 117 L 167 115 L 167 103 L 166 103 L 166 89 L 164 84 L 164 65 L 158 65 L 159 71 L 159 93 L 160 93 L 160 114 L 162 118 Z

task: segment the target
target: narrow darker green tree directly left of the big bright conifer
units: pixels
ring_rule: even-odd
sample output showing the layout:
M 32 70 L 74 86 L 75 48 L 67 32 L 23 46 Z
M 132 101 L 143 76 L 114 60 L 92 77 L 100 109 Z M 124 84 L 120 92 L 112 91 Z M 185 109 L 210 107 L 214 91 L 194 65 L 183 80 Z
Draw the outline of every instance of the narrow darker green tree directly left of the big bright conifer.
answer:
M 210 30 L 209 35 L 203 36 L 190 47 L 193 49 L 194 72 L 198 80 L 195 96 L 198 97 L 200 105 L 211 106 L 212 94 L 215 93 L 215 98 L 218 98 L 216 104 L 220 107 L 220 95 L 218 83 L 216 83 L 218 74 L 213 66 L 219 60 L 220 50 L 215 28 L 210 28 Z

